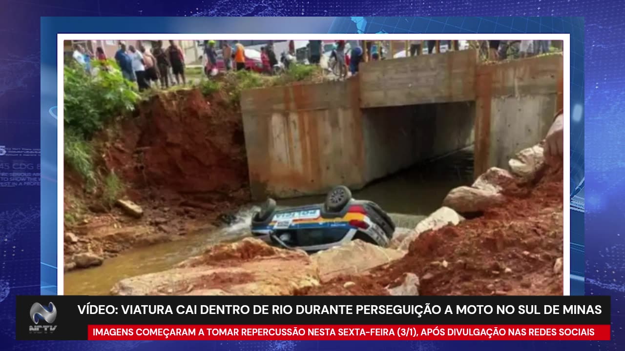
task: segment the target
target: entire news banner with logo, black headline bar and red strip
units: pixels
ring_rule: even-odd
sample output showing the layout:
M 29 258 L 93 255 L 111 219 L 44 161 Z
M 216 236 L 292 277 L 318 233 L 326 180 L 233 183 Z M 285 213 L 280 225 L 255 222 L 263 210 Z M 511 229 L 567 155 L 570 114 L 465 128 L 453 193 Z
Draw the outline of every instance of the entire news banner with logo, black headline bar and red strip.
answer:
M 609 296 L 18 296 L 18 340 L 609 340 Z

